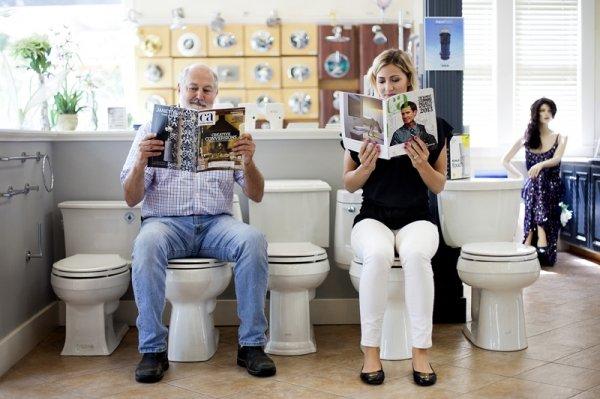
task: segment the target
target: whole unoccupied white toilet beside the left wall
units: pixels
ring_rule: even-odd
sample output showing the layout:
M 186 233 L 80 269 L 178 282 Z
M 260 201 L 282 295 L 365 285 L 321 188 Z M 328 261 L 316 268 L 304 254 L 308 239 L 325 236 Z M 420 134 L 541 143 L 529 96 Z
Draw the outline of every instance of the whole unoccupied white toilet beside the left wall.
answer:
M 122 201 L 67 201 L 62 213 L 67 258 L 52 267 L 52 288 L 66 307 L 62 355 L 109 355 L 128 326 L 114 320 L 130 281 L 139 208 Z

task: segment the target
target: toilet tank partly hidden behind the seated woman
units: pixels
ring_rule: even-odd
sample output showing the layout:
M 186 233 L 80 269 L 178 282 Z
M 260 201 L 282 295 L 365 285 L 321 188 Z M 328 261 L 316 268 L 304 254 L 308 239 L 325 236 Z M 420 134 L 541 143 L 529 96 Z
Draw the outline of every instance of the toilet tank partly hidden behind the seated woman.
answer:
M 350 233 L 354 218 L 362 206 L 362 190 L 353 193 L 338 190 L 335 206 L 335 231 L 333 234 L 335 262 L 342 268 L 349 269 L 354 253 L 350 245 Z

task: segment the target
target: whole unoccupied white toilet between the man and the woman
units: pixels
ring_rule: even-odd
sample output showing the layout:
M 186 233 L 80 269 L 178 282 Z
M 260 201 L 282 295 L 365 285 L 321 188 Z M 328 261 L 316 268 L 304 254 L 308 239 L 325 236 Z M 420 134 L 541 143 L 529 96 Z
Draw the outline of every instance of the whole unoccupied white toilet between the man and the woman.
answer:
M 310 301 L 329 272 L 329 194 L 320 180 L 267 180 L 250 224 L 269 242 L 269 341 L 275 355 L 316 352 Z

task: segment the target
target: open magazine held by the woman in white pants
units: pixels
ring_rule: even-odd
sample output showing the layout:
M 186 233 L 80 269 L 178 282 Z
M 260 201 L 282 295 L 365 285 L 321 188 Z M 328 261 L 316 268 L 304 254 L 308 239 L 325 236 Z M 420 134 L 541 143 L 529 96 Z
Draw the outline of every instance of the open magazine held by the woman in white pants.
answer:
M 404 143 L 418 136 L 431 151 L 437 146 L 433 89 L 409 91 L 387 99 L 342 93 L 340 119 L 344 147 L 358 152 L 369 138 L 381 146 L 379 158 L 406 154 Z

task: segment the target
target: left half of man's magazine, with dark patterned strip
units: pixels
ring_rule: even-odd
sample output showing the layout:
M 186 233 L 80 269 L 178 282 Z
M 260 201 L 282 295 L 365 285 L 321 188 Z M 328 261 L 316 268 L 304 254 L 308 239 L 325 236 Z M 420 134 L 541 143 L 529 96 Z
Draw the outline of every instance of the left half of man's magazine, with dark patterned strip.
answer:
M 155 105 L 150 131 L 165 142 L 160 155 L 150 157 L 148 166 L 196 171 L 198 111 L 175 106 Z

